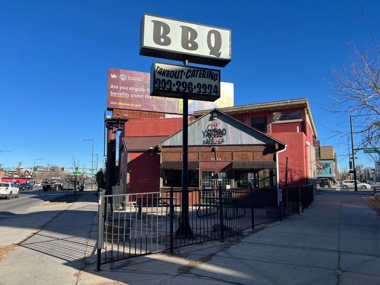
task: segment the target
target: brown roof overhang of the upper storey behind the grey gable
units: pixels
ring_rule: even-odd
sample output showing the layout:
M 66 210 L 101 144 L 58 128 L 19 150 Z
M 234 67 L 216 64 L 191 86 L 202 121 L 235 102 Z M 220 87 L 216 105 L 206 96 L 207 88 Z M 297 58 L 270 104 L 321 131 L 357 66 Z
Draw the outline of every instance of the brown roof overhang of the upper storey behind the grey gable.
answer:
M 287 109 L 295 109 L 295 108 L 306 109 L 306 112 L 308 113 L 309 118 L 310 118 L 310 124 L 313 128 L 313 132 L 315 134 L 315 137 L 317 137 L 317 129 L 316 129 L 316 126 L 314 125 L 313 116 L 311 114 L 309 101 L 307 100 L 307 98 L 290 99 L 290 100 L 274 101 L 274 102 L 266 102 L 266 103 L 256 103 L 256 104 L 234 106 L 234 107 L 225 107 L 225 108 L 219 108 L 219 110 L 228 115 L 235 115 L 235 114 L 254 113 L 254 112 L 260 112 L 260 111 L 277 111 L 277 110 L 287 110 Z M 193 116 L 196 118 L 199 118 L 200 116 L 203 116 L 204 114 L 206 114 L 207 111 L 209 110 L 195 111 Z

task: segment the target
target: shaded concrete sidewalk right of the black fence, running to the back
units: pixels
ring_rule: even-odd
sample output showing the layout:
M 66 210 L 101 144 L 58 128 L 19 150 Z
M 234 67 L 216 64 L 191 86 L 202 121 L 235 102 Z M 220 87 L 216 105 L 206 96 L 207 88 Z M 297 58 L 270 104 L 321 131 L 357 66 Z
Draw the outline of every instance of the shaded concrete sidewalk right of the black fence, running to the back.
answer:
M 304 213 L 245 231 L 237 244 L 206 242 L 103 265 L 100 272 L 94 264 L 78 284 L 378 285 L 380 217 L 361 198 L 370 195 L 320 191 Z

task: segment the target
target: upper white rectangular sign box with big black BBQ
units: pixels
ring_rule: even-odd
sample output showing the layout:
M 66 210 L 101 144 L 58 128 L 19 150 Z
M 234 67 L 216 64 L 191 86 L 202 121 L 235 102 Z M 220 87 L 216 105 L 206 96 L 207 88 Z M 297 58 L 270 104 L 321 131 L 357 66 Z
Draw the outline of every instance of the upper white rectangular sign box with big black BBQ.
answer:
M 144 13 L 140 55 L 224 67 L 231 61 L 231 30 Z

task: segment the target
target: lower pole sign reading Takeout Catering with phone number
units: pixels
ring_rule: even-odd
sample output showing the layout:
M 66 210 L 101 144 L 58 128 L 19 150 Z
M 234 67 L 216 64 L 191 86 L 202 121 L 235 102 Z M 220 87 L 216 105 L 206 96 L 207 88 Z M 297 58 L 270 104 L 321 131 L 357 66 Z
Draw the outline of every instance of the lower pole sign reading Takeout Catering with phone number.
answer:
M 211 101 L 221 97 L 221 71 L 217 69 L 153 62 L 150 69 L 151 96 Z

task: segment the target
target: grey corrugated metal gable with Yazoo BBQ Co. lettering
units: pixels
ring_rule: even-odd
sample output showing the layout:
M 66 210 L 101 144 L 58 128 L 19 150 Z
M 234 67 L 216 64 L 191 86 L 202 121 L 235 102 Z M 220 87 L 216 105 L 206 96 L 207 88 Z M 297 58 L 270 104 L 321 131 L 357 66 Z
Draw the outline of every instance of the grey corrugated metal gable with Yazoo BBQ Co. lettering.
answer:
M 218 109 L 209 110 L 205 115 L 188 126 L 189 146 L 222 145 L 266 145 L 285 144 L 269 135 L 250 127 Z M 182 129 L 158 142 L 156 146 L 182 146 Z

